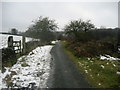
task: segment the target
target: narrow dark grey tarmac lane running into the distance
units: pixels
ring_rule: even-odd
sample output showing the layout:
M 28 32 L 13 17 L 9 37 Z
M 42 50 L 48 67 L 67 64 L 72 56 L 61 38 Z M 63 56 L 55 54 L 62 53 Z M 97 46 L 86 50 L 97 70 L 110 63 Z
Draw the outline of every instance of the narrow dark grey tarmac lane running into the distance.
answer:
M 53 74 L 48 79 L 49 88 L 90 88 L 85 77 L 64 52 L 60 42 L 51 50 Z M 50 85 L 51 83 L 51 85 Z

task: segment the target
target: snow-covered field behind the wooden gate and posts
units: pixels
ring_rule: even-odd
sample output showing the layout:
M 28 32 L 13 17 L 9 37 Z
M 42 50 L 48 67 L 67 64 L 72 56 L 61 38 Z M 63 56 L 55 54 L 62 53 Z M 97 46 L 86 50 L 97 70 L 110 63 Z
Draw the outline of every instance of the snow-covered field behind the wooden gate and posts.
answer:
M 9 36 L 13 36 L 14 41 L 20 41 L 20 40 L 22 41 L 22 36 L 0 34 L 0 49 L 7 47 L 7 41 L 8 41 Z M 26 37 L 25 42 L 29 42 L 29 41 L 32 41 L 32 40 L 35 41 L 35 40 L 38 40 L 38 39 L 33 39 L 33 38 Z

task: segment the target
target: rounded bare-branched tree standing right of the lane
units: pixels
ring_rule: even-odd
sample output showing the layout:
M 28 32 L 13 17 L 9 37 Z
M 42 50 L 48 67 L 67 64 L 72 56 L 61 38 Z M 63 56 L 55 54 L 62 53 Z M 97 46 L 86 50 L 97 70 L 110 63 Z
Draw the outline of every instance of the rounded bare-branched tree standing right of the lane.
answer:
M 84 35 L 85 32 L 94 29 L 94 25 L 88 21 L 83 21 L 83 20 L 75 20 L 71 21 L 69 25 L 65 26 L 65 32 L 68 36 L 74 36 L 76 40 L 80 38 L 80 33 L 81 35 Z

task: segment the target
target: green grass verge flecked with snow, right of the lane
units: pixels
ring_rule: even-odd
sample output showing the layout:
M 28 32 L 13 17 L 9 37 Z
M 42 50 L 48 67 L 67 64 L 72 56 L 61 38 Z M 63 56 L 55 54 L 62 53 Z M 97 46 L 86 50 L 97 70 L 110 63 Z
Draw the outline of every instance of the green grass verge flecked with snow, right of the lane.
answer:
M 84 73 L 88 82 L 95 88 L 120 88 L 120 75 L 117 75 L 118 61 L 100 60 L 94 58 L 79 58 L 65 47 L 65 52 L 70 56 L 81 72 Z

